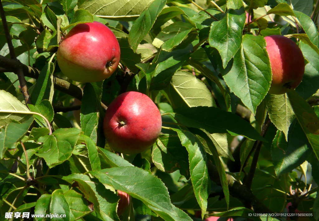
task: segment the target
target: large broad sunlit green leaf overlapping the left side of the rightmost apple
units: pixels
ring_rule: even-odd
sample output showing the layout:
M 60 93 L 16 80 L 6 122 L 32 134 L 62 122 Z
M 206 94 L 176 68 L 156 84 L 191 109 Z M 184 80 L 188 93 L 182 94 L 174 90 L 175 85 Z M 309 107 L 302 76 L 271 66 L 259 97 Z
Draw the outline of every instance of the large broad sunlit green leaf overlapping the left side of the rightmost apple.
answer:
M 231 70 L 223 77 L 234 94 L 255 114 L 271 84 L 271 66 L 264 38 L 244 35 Z

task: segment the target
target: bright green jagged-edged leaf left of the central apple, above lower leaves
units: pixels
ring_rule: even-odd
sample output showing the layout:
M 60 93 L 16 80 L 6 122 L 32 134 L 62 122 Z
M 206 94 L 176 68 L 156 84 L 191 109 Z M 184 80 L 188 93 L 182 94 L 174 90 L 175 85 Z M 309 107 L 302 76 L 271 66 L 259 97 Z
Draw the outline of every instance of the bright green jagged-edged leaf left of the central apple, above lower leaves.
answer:
M 57 129 L 52 135 L 46 135 L 39 139 L 42 148 L 35 153 L 44 158 L 49 168 L 62 164 L 70 158 L 78 140 L 80 130 L 77 128 Z

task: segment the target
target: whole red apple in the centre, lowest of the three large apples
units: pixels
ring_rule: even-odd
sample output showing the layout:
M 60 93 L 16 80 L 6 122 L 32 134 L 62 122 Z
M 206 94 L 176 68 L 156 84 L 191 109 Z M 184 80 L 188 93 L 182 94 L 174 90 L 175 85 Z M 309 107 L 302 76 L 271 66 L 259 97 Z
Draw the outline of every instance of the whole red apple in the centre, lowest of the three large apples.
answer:
M 150 148 L 161 127 L 159 109 L 140 92 L 120 94 L 105 112 L 105 137 L 109 146 L 121 153 L 135 154 Z

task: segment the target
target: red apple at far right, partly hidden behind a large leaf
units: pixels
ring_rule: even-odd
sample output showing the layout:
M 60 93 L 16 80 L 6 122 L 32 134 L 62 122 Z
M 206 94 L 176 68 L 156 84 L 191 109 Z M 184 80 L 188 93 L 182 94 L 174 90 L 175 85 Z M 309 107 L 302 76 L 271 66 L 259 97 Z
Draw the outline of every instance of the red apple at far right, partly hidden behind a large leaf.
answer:
M 266 36 L 272 81 L 270 94 L 283 94 L 296 88 L 305 72 L 305 63 L 300 48 L 291 39 L 281 35 Z

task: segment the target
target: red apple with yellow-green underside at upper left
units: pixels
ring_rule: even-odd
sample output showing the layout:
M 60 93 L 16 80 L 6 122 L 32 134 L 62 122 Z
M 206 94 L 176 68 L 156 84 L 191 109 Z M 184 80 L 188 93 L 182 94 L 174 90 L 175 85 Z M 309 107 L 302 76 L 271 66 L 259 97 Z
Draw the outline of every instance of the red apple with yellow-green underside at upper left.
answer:
M 61 71 L 70 79 L 97 82 L 113 74 L 120 54 L 113 32 L 94 21 L 72 28 L 60 43 L 56 57 Z

